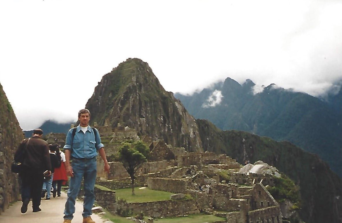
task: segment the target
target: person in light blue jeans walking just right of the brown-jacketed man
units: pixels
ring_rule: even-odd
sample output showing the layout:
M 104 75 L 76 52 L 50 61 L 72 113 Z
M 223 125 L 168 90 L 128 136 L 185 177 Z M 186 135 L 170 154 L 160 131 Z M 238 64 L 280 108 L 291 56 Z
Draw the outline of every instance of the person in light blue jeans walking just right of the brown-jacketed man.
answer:
M 49 149 L 50 149 L 50 161 L 51 161 L 51 175 L 46 176 L 44 178 L 43 187 L 42 187 L 42 194 L 41 194 L 41 197 L 43 198 L 43 197 L 45 197 L 45 193 L 46 193 L 45 200 L 50 200 L 54 170 L 56 167 L 61 166 L 60 158 L 58 158 L 56 156 L 56 149 L 58 149 L 58 144 L 56 144 L 56 143 L 53 145 L 50 144 Z

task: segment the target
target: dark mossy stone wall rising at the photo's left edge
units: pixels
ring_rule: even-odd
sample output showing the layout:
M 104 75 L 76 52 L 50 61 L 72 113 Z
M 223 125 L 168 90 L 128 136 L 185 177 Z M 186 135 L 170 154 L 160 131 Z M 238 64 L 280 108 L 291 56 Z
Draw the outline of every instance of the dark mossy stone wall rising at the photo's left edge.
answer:
M 19 198 L 18 174 L 11 172 L 11 164 L 23 139 L 22 129 L 0 84 L 0 213 Z

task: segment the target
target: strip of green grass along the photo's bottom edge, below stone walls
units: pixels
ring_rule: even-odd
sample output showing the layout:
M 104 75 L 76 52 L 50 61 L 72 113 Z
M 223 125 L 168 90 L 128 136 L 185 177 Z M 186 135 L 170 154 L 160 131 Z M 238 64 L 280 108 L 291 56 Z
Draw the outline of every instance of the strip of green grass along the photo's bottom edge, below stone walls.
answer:
M 132 223 L 133 221 L 127 218 L 119 217 L 116 215 L 105 214 L 105 218 L 109 219 L 115 223 Z M 145 218 L 145 220 L 147 217 Z M 205 222 L 215 222 L 224 221 L 224 218 L 219 218 L 214 215 L 207 214 L 190 214 L 187 217 L 177 217 L 177 218 L 162 218 L 155 219 L 155 223 L 205 223 Z

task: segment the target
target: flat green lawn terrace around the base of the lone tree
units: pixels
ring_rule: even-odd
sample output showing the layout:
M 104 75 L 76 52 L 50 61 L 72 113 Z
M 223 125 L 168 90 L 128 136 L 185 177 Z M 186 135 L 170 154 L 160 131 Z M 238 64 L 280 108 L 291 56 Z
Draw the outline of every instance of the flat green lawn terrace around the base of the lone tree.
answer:
M 125 199 L 127 202 L 149 202 L 149 201 L 158 201 L 158 200 L 170 200 L 170 196 L 173 193 L 165 192 L 165 191 L 154 191 L 148 189 L 147 187 L 139 187 L 134 188 L 134 196 L 132 195 L 131 188 L 118 189 L 115 190 L 116 198 Z

